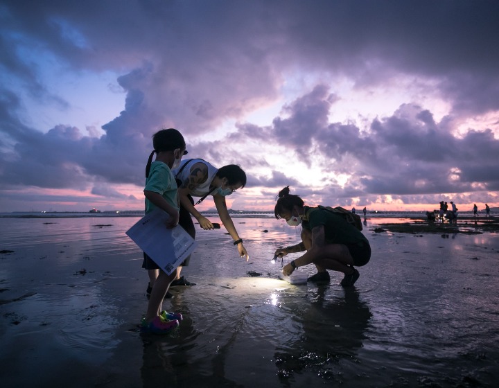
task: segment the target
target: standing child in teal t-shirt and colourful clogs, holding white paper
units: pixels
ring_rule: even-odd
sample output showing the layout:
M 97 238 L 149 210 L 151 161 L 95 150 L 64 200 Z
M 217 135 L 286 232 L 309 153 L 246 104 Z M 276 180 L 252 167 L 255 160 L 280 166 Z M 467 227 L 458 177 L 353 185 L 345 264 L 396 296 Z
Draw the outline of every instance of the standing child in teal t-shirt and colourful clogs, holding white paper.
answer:
M 178 166 L 186 151 L 184 136 L 174 128 L 160 130 L 152 136 L 152 150 L 146 166 L 146 214 L 155 208 L 162 209 L 170 215 L 166 227 L 173 228 L 179 222 L 179 199 L 177 182 L 171 172 Z M 152 157 L 156 154 L 155 161 Z M 148 270 L 150 297 L 146 317 L 141 321 L 141 331 L 164 334 L 179 325 L 182 315 L 162 311 L 163 299 L 168 292 L 170 283 L 175 279 L 176 272 L 170 275 L 159 270 L 159 266 L 143 253 L 142 267 Z

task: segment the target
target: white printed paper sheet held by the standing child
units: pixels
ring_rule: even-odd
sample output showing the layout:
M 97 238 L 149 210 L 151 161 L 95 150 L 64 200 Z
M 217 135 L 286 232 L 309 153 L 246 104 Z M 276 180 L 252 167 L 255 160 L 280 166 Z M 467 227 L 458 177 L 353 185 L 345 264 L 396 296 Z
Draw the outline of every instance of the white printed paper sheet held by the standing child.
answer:
M 125 233 L 169 275 L 193 252 L 196 243 L 180 225 L 168 229 L 168 218 L 168 213 L 156 208 Z

